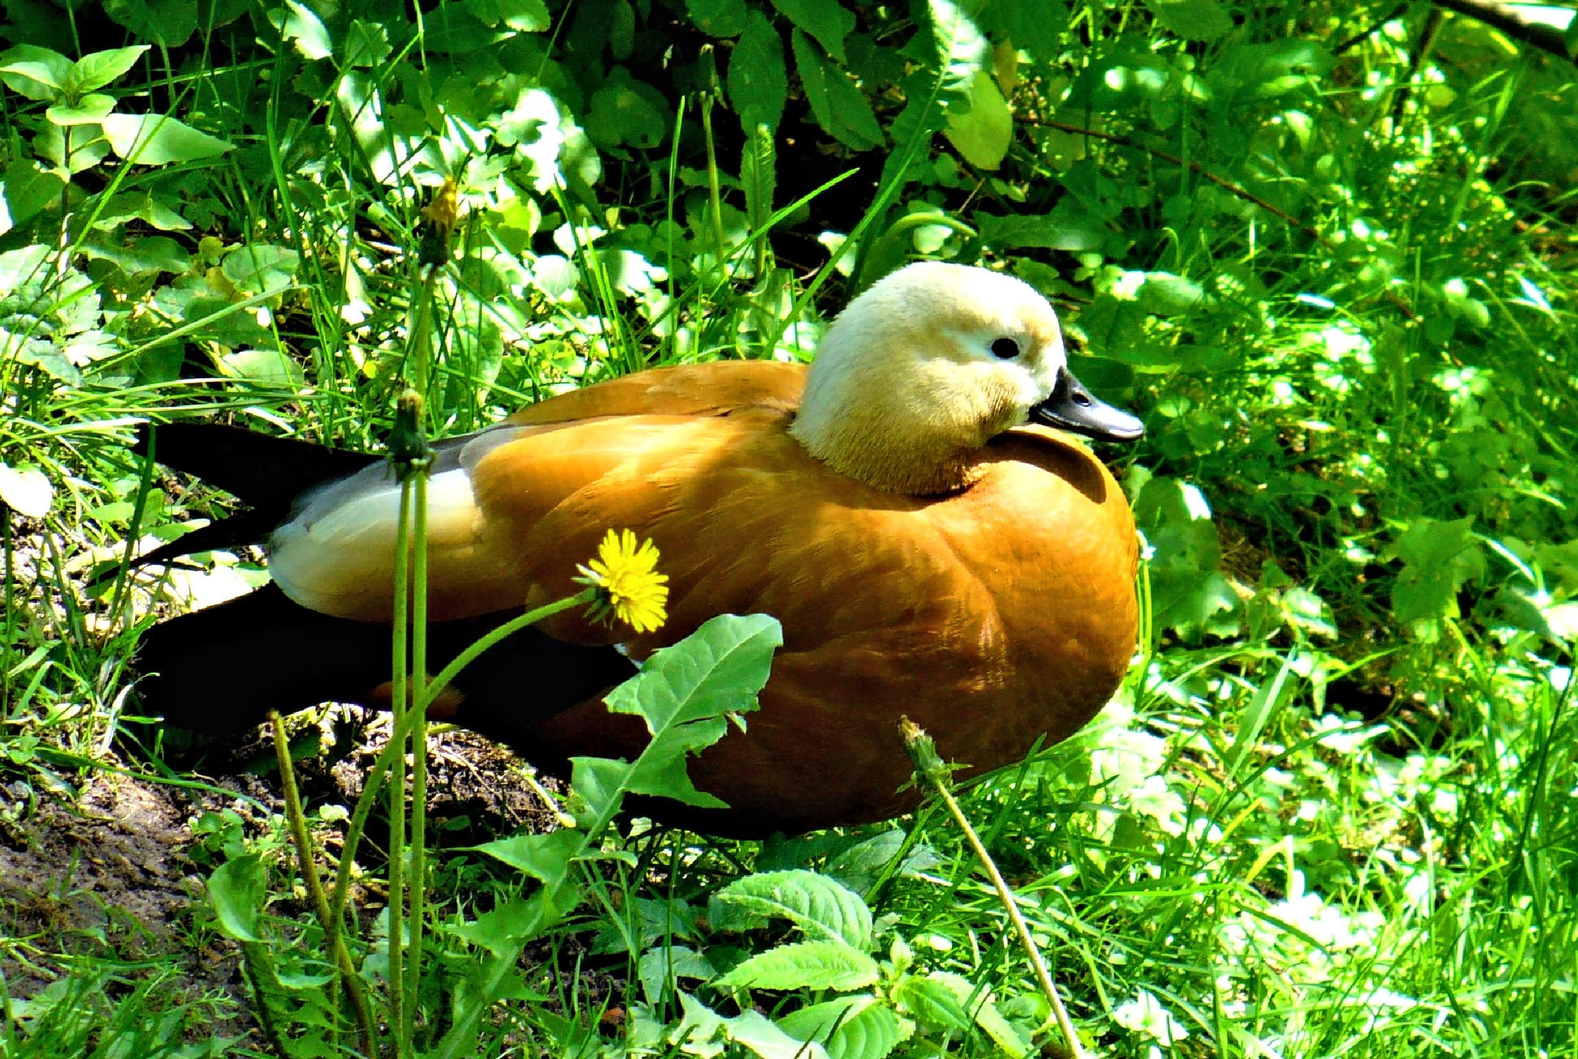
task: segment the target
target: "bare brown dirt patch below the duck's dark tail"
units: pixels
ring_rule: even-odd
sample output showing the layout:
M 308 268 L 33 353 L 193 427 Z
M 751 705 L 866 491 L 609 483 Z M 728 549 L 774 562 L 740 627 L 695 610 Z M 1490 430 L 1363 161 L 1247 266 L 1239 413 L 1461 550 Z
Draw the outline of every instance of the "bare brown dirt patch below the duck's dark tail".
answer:
M 358 717 L 350 715 L 350 732 L 346 715 L 336 718 L 335 731 L 353 735 L 349 753 L 297 764 L 309 816 L 323 803 L 352 806 L 366 767 L 387 740 L 387 718 L 358 728 Z M 323 726 L 328 729 L 331 720 Z M 245 756 L 248 748 L 237 750 Z M 256 758 L 267 743 L 249 750 Z M 126 769 L 142 770 L 136 762 Z M 0 974 L 11 997 L 36 996 L 80 958 L 174 963 L 188 999 L 218 994 L 237 1001 L 232 1018 L 199 1027 L 204 1035 L 259 1043 L 238 949 L 197 928 L 210 919 L 202 907 L 210 868 L 189 851 L 193 822 L 204 813 L 232 810 L 256 833 L 270 814 L 282 811 L 279 784 L 278 776 L 237 772 L 207 783 L 218 791 L 101 770 L 85 776 L 74 805 L 35 795 L 22 781 L 0 786 Z M 521 827 L 544 829 L 552 819 L 525 783 L 519 761 L 464 731 L 429 740 L 428 805 L 429 841 L 440 848 Z M 382 857 L 385 835 L 377 822 L 369 825 L 363 863 Z

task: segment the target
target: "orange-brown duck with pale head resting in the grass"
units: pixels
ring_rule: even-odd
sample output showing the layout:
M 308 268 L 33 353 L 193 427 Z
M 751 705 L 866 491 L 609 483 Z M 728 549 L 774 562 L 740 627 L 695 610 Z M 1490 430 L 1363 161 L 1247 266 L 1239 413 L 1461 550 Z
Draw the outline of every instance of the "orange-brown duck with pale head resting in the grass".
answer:
M 1068 369 L 1027 283 L 909 264 L 857 295 L 810 363 L 661 366 L 434 443 L 429 658 L 574 595 L 609 529 L 650 540 L 667 620 L 562 612 L 495 646 L 440 720 L 568 775 L 647 732 L 603 694 L 718 614 L 770 614 L 783 646 L 743 731 L 690 762 L 727 808 L 642 813 L 742 838 L 915 808 L 907 715 L 972 775 L 1067 739 L 1135 652 L 1138 546 L 1122 488 L 1075 436 L 1139 418 Z M 271 582 L 142 638 L 145 712 L 234 732 L 327 701 L 387 705 L 399 485 L 387 461 L 213 423 L 137 450 L 249 510 L 156 557 L 262 543 Z M 439 707 L 436 707 L 439 709 Z

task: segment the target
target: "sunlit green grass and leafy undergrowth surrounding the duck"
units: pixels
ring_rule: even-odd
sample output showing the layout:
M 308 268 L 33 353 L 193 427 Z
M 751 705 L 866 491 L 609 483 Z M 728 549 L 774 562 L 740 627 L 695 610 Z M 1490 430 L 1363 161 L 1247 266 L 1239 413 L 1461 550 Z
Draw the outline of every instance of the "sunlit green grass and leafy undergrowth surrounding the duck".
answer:
M 445 43 L 462 5 L 440 5 L 420 33 L 346 6 L 363 21 L 325 24 L 328 58 L 314 58 L 308 22 L 281 41 L 216 21 L 101 88 L 232 152 L 145 166 L 77 153 L 71 183 L 32 213 L 6 170 L 0 462 L 52 488 L 33 516 L 21 508 L 38 507 L 36 477 L 32 494 L 0 489 L 14 508 L 0 540 L 8 848 L 36 840 L 38 799 L 71 803 L 117 769 L 170 780 L 158 756 L 115 748 L 137 709 L 137 627 L 262 576 L 251 556 L 161 578 L 117 565 L 224 507 L 131 458 L 134 425 L 226 417 L 374 447 L 412 379 L 418 211 L 453 177 L 469 213 L 420 349 L 439 434 L 645 365 L 800 358 L 854 283 L 841 273 L 917 253 L 985 254 L 1040 284 L 1079 339 L 1086 382 L 1146 413 L 1146 443 L 1117 456 L 1152 549 L 1136 666 L 1086 732 L 964 795 L 1094 1051 L 1573 1054 L 1570 71 L 1460 17 L 1420 54 L 1412 16 L 1362 35 L 1370 16 L 1348 9 L 1243 11 L 1232 32 L 1198 24 L 1204 36 L 1185 43 L 1147 5 L 1079 8 L 1053 52 L 1015 39 L 1026 84 L 999 169 L 929 136 L 940 109 L 901 120 L 915 88 L 884 80 L 877 55 L 857 95 L 884 129 L 915 120 L 928 134 L 895 134 L 873 166 L 791 98 L 802 123 L 772 137 L 773 186 L 740 172 L 726 110 L 680 106 L 656 80 L 658 52 L 642 51 L 656 36 L 636 35 L 619 60 L 679 125 L 652 147 L 645 110 L 631 103 L 620 126 L 574 84 L 611 66 L 617 43 L 568 8 L 541 32 L 499 30 L 500 73 L 494 52 Z M 669 6 L 688 19 L 696 5 Z M 787 39 L 784 16 L 748 6 Z M 873 47 L 917 33 L 907 16 L 847 6 Z M 73 57 L 107 47 L 24 30 Z M 390 51 L 347 51 L 380 36 Z M 1280 51 L 1300 41 L 1326 51 Z M 541 85 L 557 103 L 525 95 Z M 432 125 L 437 110 L 447 122 Z M 46 101 L 9 84 L 3 114 L 14 155 L 49 169 Z M 562 122 L 565 152 L 525 133 L 540 118 Z M 911 144 L 911 183 L 887 185 L 892 210 L 869 208 L 868 177 Z M 846 158 L 868 170 L 827 188 Z M 912 219 L 928 210 L 948 224 Z M 1002 216 L 1049 227 L 1015 235 L 993 227 Z M 851 240 L 841 268 L 824 268 L 816 241 L 827 218 Z M 335 849 L 346 824 L 319 810 L 308 819 Z M 322 1035 L 325 1054 L 350 1054 L 346 1024 L 330 1032 L 344 1010 L 319 980 L 328 961 L 284 821 L 213 803 L 200 819 L 186 854 L 197 874 L 257 868 L 246 879 L 260 879 L 270 941 L 249 974 L 273 997 L 275 1040 L 309 1054 Z M 573 868 L 584 900 L 522 942 L 475 1054 L 705 1054 L 710 1034 L 727 1054 L 753 1054 L 745 1040 L 794 1054 L 739 1020 L 792 1027 L 838 991 L 716 985 L 800 939 L 784 920 L 734 930 L 718 895 L 798 868 L 869 906 L 862 941 L 881 972 L 862 988 L 904 1031 L 892 1054 L 1000 1054 L 975 1012 L 986 999 L 1013 1034 L 1059 1048 L 947 814 L 928 806 L 895 827 L 767 844 L 601 836 L 603 855 Z M 374 881 L 380 852 L 365 846 Z M 431 1054 L 497 958 L 470 925 L 543 892 L 477 852 L 429 859 L 415 1035 Z M 19 923 L 21 898 L 5 900 L 0 923 Z M 211 904 L 199 898 L 175 949 L 151 958 L 114 936 L 0 936 L 0 1054 L 219 1054 L 204 1027 L 256 1012 L 256 997 L 174 988 L 208 949 L 238 952 Z M 387 926 L 376 907 L 358 925 L 353 955 L 376 971 Z M 871 1029 L 871 1054 L 881 1040 Z M 262 1035 L 240 1046 L 268 1054 Z

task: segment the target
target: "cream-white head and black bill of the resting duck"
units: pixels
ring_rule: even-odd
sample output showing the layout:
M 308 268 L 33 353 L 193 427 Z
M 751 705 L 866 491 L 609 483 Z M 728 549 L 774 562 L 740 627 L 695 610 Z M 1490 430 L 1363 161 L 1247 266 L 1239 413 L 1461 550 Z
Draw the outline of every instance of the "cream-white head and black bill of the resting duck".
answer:
M 1023 423 L 1131 442 L 1138 418 L 1068 372 L 1057 314 L 1027 283 L 918 262 L 857 297 L 828 328 L 791 434 L 833 470 L 933 496 L 980 477 L 980 448 Z

